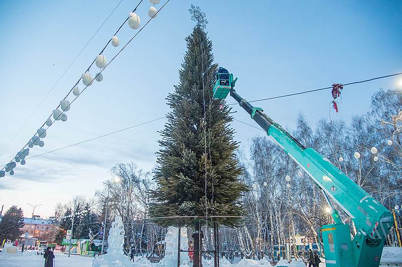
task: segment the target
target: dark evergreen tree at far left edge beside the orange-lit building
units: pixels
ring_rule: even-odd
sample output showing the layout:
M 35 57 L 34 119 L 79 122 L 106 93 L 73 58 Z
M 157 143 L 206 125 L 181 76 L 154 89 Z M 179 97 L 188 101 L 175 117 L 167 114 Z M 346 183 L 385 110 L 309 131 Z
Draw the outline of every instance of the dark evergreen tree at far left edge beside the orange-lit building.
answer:
M 21 208 L 9 208 L 0 222 L 0 240 L 17 240 L 23 234 L 20 228 L 24 227 L 24 213 Z

